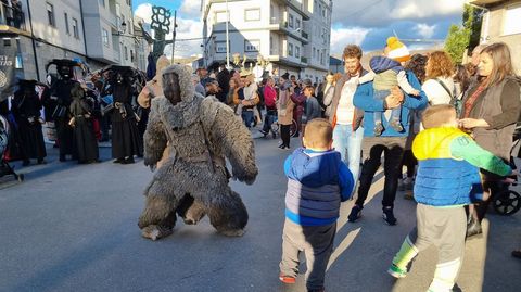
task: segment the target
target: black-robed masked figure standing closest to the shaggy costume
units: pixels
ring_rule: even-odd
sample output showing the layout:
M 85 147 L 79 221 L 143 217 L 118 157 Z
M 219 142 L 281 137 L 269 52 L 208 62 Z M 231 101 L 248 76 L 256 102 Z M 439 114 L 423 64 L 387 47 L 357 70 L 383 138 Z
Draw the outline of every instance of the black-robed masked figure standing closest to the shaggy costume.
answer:
M 112 112 L 112 156 L 114 163 L 134 163 L 134 155 L 143 155 L 143 140 L 132 110 L 134 71 L 128 66 L 111 66 L 110 77 L 114 110 Z

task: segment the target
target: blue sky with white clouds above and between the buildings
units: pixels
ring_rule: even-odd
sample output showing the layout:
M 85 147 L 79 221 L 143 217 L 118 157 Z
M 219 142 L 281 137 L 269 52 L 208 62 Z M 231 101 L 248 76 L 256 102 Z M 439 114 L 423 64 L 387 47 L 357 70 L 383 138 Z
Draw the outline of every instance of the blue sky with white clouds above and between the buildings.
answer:
M 395 33 L 410 49 L 425 49 L 445 39 L 452 24 L 461 23 L 463 0 L 333 0 L 331 53 L 339 54 L 347 43 L 365 51 L 380 50 Z M 202 33 L 200 0 L 134 0 L 137 15 L 150 17 L 150 7 L 177 10 L 178 38 Z M 414 41 L 420 39 L 421 41 Z M 442 40 L 442 41 L 440 41 Z M 180 54 L 200 52 L 198 41 L 176 43 Z M 179 47 L 178 47 L 179 46 Z

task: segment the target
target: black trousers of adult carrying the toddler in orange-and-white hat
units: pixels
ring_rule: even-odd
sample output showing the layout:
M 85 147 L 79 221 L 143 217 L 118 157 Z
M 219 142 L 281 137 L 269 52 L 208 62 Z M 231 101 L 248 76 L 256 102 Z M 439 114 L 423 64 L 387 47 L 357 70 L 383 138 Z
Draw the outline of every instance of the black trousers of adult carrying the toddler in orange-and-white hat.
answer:
M 382 152 L 384 155 L 383 173 L 385 181 L 383 186 L 384 207 L 393 207 L 398 178 L 402 176 L 402 157 L 404 155 L 406 137 L 364 137 L 361 142 L 363 166 L 358 199 L 356 204 L 363 206 L 371 188 L 372 178 L 380 167 Z

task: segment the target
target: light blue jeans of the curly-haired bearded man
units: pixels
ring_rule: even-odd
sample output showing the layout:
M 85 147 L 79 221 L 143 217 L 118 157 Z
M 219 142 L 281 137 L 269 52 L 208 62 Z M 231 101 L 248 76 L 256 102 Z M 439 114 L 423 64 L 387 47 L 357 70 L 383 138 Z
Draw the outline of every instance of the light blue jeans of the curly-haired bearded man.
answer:
M 333 148 L 340 152 L 342 161 L 347 165 L 355 181 L 358 180 L 360 172 L 361 139 L 364 138 L 364 128 L 359 127 L 353 131 L 353 125 L 334 126 Z

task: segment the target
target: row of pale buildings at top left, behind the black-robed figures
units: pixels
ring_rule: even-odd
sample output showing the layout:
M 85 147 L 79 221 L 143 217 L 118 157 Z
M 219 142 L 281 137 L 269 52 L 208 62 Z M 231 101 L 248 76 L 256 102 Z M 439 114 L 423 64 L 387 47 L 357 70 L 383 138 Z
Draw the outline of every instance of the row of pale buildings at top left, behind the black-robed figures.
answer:
M 131 0 L 22 0 L 22 20 L 9 22 L 2 2 L 0 37 L 16 43 L 16 75 L 43 80 L 52 59 L 77 59 L 91 69 L 137 66 Z

